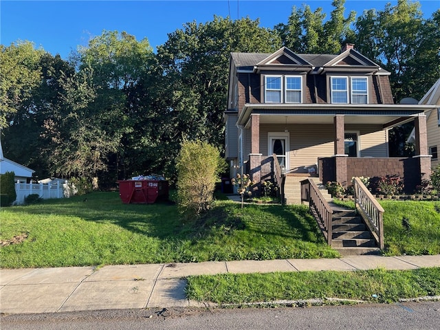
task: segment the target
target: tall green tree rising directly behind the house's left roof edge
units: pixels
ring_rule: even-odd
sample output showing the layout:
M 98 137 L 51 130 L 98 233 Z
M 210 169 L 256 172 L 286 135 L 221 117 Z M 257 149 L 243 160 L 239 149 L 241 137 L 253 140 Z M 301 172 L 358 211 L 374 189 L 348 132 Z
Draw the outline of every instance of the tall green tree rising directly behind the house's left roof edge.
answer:
M 170 87 L 166 92 L 172 96 L 170 136 L 177 143 L 187 138 L 222 146 L 230 52 L 274 52 L 279 47 L 274 31 L 248 18 L 214 17 L 207 23 L 186 23 L 183 30 L 168 34 L 157 57 Z

